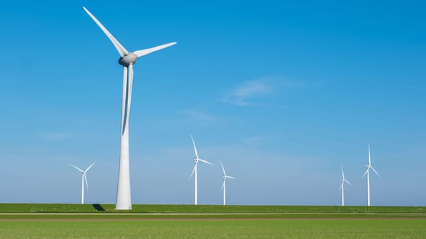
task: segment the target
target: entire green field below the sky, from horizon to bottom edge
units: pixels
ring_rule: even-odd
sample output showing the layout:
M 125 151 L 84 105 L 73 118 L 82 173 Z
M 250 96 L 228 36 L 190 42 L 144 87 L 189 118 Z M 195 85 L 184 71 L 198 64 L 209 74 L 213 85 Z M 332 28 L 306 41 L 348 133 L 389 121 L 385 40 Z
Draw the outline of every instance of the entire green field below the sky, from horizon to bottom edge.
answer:
M 0 203 L 0 238 L 426 238 L 426 207 Z

